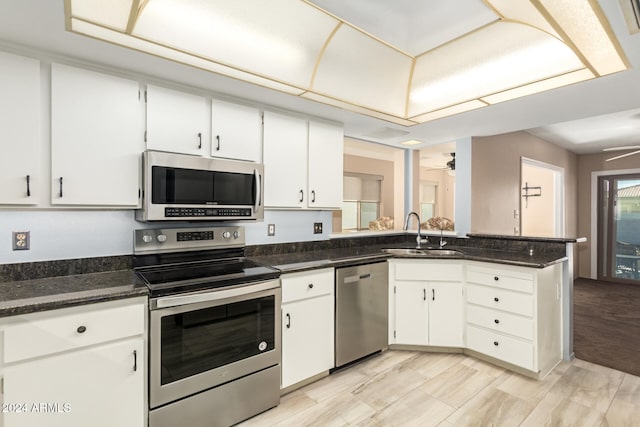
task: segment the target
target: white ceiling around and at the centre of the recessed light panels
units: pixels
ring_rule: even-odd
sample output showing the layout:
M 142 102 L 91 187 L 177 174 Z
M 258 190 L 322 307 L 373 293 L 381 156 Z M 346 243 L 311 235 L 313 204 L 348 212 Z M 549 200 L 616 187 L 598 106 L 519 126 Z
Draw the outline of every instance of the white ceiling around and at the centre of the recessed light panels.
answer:
M 464 32 L 466 26 L 477 26 L 483 19 L 491 19 L 486 15 L 482 0 L 456 1 L 455 8 L 451 6 L 454 2 L 438 0 L 317 0 L 314 3 L 412 53 L 440 44 L 442 40 Z M 40 57 L 44 52 L 53 60 L 64 59 L 130 73 L 144 80 L 171 81 L 265 106 L 336 120 L 344 123 L 347 136 L 389 145 L 398 145 L 407 139 L 431 145 L 470 136 L 529 130 L 576 153 L 590 153 L 606 146 L 640 143 L 640 34 L 629 34 L 618 0 L 598 0 L 598 3 L 631 64 L 628 71 L 412 127 L 66 32 L 64 0 L 0 0 L 0 48 L 19 53 L 33 52 Z M 622 132 L 622 128 L 626 130 Z

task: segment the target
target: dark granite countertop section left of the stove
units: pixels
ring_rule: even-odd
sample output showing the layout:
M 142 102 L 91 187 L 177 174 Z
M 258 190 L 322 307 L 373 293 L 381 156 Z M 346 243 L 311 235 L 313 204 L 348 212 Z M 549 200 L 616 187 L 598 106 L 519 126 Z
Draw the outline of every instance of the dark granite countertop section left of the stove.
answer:
M 4 282 L 0 317 L 146 295 L 132 270 Z

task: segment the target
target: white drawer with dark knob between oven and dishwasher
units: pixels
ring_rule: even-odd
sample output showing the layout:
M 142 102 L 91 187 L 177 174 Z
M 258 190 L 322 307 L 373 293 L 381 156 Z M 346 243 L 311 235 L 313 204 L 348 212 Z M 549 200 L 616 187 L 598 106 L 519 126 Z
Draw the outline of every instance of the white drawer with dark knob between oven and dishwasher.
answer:
M 285 274 L 282 280 L 282 303 L 333 294 L 333 268 Z

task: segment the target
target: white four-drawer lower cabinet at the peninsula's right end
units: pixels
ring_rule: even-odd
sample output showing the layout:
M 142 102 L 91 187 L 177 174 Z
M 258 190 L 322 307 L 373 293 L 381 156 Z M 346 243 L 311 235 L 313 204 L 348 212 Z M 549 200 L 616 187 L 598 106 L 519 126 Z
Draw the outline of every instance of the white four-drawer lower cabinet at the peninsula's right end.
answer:
M 467 265 L 467 348 L 546 375 L 562 358 L 561 267 Z

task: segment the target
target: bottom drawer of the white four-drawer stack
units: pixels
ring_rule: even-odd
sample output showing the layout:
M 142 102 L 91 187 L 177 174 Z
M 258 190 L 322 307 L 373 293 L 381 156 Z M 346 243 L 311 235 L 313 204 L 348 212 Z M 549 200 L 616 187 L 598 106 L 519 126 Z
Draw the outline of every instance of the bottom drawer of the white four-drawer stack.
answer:
M 531 371 L 535 370 L 534 347 L 527 341 L 468 325 L 467 348 Z

